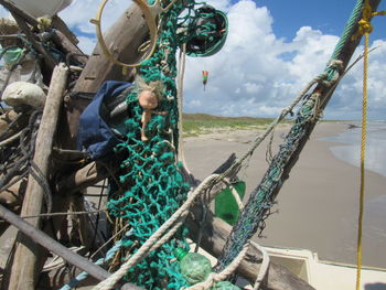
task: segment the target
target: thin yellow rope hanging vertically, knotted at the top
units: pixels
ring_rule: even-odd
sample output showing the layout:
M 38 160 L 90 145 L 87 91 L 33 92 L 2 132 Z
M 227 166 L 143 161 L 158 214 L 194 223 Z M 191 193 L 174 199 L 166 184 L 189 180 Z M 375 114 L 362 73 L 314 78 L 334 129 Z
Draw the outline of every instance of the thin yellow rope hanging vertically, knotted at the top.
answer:
M 365 195 L 365 150 L 366 150 L 366 129 L 367 129 L 367 66 L 368 66 L 368 34 L 372 33 L 373 26 L 369 22 L 374 15 L 385 15 L 386 11 L 372 12 L 368 0 L 365 0 L 362 19 L 358 24 L 358 33 L 365 35 L 365 50 L 363 55 L 363 104 L 362 104 L 362 135 L 361 135 L 361 193 L 360 193 L 360 216 L 356 248 L 356 290 L 361 289 L 361 270 L 362 270 L 362 234 L 363 234 L 363 215 L 364 215 L 364 195 Z

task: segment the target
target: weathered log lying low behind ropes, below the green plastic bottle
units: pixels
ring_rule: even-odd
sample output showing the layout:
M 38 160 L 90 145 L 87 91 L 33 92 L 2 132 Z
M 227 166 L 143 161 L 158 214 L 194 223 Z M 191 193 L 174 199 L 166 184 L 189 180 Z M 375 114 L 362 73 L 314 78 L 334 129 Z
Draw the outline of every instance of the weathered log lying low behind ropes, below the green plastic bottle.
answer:
M 232 226 L 218 217 L 215 217 L 211 211 L 206 212 L 205 219 L 202 221 L 201 217 L 203 216 L 203 213 L 200 205 L 193 206 L 192 213 L 193 215 L 187 216 L 185 222 L 190 236 L 193 240 L 195 240 L 197 236 L 201 236 L 200 246 L 214 257 L 219 257 L 225 241 L 230 234 Z M 200 232 L 202 233 L 200 234 Z M 246 278 L 251 284 L 255 283 L 260 270 L 261 258 L 261 253 L 251 245 L 248 249 L 246 259 L 242 261 L 237 269 L 237 272 Z M 287 268 L 275 262 L 270 262 L 269 265 L 264 289 L 314 290 L 314 288 L 290 272 Z

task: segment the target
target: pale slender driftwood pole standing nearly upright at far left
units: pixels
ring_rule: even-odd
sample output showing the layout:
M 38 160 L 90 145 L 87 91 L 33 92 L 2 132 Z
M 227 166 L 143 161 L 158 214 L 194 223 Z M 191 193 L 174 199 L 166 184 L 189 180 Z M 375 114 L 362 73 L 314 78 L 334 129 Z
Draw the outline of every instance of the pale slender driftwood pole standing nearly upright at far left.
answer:
M 60 64 L 54 69 L 36 137 L 36 150 L 33 161 L 45 176 L 49 173 L 50 154 L 56 130 L 60 107 L 66 86 L 67 74 L 68 68 L 63 64 Z M 21 214 L 24 216 L 39 215 L 42 212 L 42 204 L 43 189 L 33 176 L 30 176 Z M 29 222 L 34 227 L 39 228 L 41 221 L 40 218 L 32 218 Z M 12 264 L 9 289 L 32 290 L 34 289 L 36 277 L 39 275 L 36 262 L 39 260 L 40 247 L 31 243 L 31 240 L 24 235 L 19 235 L 18 241 L 19 245 Z

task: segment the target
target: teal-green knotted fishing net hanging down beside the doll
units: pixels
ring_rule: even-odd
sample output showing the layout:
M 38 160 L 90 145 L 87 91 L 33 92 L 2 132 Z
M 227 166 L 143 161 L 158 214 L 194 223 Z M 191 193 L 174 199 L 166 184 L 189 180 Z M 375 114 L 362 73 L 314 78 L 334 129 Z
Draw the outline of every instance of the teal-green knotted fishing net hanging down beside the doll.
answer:
M 141 140 L 142 108 L 138 103 L 138 88 L 127 97 L 130 117 L 124 123 L 126 138 L 115 148 L 117 157 L 122 159 L 119 186 L 125 187 L 125 193 L 112 193 L 107 204 L 109 215 L 128 223 L 131 228 L 131 235 L 124 239 L 126 253 L 121 257 L 136 253 L 181 206 L 190 189 L 176 162 L 180 116 L 175 54 L 181 43 L 189 39 L 186 33 L 178 34 L 178 30 L 186 31 L 196 22 L 194 6 L 194 1 L 184 2 L 184 7 L 175 3 L 161 13 L 156 52 L 138 69 L 147 84 L 160 80 L 163 85 L 162 97 L 154 110 L 165 114 L 151 116 L 146 126 L 148 141 Z M 185 13 L 180 17 L 183 9 Z M 210 28 L 200 33 L 208 31 Z M 117 185 L 111 189 L 117 189 Z M 180 229 L 170 241 L 151 251 L 133 267 L 125 279 L 146 289 L 180 289 L 186 286 L 179 262 L 172 261 L 178 246 L 187 247 L 185 237 L 186 230 Z

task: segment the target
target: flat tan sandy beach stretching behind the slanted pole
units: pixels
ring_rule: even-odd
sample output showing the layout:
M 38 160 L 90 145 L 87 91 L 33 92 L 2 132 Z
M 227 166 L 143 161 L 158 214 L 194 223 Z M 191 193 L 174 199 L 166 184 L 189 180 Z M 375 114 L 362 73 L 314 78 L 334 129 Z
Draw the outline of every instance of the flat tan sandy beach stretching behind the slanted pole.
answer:
M 335 158 L 330 148 L 341 143 L 321 140 L 347 129 L 345 122 L 321 122 L 311 135 L 290 179 L 283 184 L 274 212 L 267 221 L 262 245 L 304 248 L 320 259 L 356 262 L 356 232 L 360 194 L 360 169 Z M 286 128 L 287 127 L 287 128 Z M 274 154 L 289 126 L 276 130 Z M 185 158 L 197 179 L 204 179 L 235 152 L 242 155 L 258 131 L 215 132 L 184 140 Z M 267 141 L 256 150 L 239 178 L 247 183 L 246 198 L 267 170 Z M 366 171 L 365 201 L 376 201 L 385 193 L 386 178 Z M 245 201 L 246 201 L 245 198 Z M 386 268 L 386 226 L 382 216 L 365 212 L 364 265 Z M 380 219 L 380 221 L 379 221 Z

